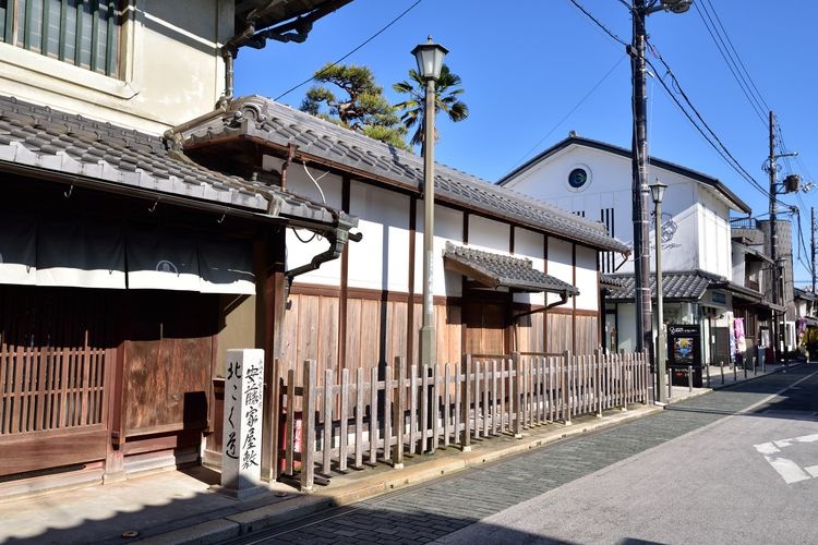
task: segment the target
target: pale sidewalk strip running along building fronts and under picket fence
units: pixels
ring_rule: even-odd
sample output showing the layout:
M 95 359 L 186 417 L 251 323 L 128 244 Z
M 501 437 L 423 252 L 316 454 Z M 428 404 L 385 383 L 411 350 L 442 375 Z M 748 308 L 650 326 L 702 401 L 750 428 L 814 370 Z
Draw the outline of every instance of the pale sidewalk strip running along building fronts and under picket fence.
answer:
M 721 370 L 714 370 L 713 389 L 722 387 Z M 757 373 L 748 370 L 745 379 L 742 370 L 727 373 L 725 367 L 723 387 L 782 370 L 783 365 L 768 365 Z M 669 401 L 708 391 L 710 388 L 674 386 Z M 314 494 L 272 483 L 269 492 L 237 500 L 209 489 L 219 482 L 217 471 L 196 467 L 7 502 L 0 498 L 0 543 L 214 543 L 661 410 L 636 404 L 626 411 L 606 411 L 602 417 L 582 416 L 568 426 L 554 423 L 528 429 L 521 439 L 504 435 L 476 440 L 470 452 L 444 447 L 434 455 L 406 456 L 402 469 L 380 463 L 363 471 L 350 470 L 335 474 L 329 485 Z

